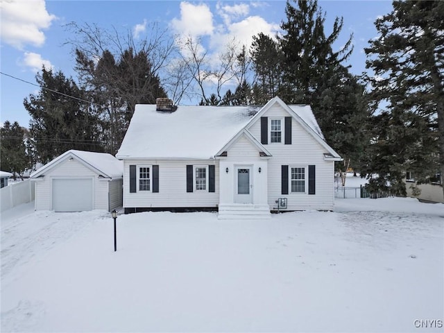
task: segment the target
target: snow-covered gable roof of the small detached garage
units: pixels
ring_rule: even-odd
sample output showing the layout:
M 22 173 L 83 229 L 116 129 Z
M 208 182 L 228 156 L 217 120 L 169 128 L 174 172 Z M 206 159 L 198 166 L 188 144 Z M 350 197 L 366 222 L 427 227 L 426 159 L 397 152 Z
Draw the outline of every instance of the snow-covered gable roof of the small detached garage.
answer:
M 106 178 L 119 178 L 123 176 L 123 163 L 117 160 L 116 157 L 107 153 L 93 153 L 91 151 L 76 151 L 71 149 L 62 153 L 51 162 L 45 164 L 37 171 L 31 173 L 31 178 L 36 178 L 44 174 L 45 171 L 55 167 L 58 163 L 66 158 L 74 157 L 80 162 L 83 162 L 90 169 L 94 169 L 96 173 Z

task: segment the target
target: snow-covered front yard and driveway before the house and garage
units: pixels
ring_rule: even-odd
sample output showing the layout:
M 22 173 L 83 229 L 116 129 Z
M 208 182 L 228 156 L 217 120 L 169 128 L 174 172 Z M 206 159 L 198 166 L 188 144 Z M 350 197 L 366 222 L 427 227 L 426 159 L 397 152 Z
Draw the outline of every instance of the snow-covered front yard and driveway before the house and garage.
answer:
M 108 212 L 32 208 L 1 215 L 1 332 L 443 331 L 443 204 L 121 215 L 116 253 Z

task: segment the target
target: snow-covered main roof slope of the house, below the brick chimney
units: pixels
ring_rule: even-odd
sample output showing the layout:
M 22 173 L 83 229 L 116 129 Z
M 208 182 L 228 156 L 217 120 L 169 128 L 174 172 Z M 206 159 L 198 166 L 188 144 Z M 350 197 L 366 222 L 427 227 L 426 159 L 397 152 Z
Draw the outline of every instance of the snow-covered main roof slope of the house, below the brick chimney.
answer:
M 176 112 L 136 105 L 117 158 L 213 157 L 260 107 L 179 106 Z

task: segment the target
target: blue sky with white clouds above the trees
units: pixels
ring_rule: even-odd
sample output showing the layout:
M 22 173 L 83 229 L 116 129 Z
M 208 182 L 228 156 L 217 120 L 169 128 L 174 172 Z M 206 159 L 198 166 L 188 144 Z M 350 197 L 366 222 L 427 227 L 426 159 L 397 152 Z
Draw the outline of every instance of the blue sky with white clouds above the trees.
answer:
M 327 13 L 326 33 L 335 17 L 343 17 L 339 49 L 353 33 L 349 65 L 354 74 L 365 70 L 364 47 L 377 35 L 375 19 L 391 11 L 391 1 L 318 0 Z M 76 78 L 71 46 L 64 45 L 71 33 L 69 22 L 97 24 L 101 28 L 130 30 L 140 36 L 157 22 L 171 33 L 205 37 L 204 47 L 216 53 L 223 40 L 236 36 L 244 43 L 259 32 L 274 35 L 285 19 L 285 1 L 1 1 L 1 72 L 35 83 L 44 64 Z M 18 121 L 27 127 L 28 112 L 23 100 L 38 91 L 9 76 L 0 76 L 0 121 Z M 182 101 L 189 104 L 192 101 Z

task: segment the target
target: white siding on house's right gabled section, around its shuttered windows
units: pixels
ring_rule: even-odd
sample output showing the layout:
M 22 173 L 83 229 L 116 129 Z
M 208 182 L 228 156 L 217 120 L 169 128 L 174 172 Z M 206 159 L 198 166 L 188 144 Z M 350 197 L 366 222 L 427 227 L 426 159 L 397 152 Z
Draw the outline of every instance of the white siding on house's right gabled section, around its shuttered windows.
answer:
M 289 117 L 289 114 L 276 104 L 264 117 Z M 283 143 L 266 144 L 265 148 L 273 155 L 268 160 L 268 205 L 277 207 L 275 200 L 287 198 L 288 210 L 333 210 L 334 205 L 334 162 L 324 161 L 325 148 L 316 139 L 309 135 L 300 124 L 291 121 L 291 145 Z M 251 126 L 250 133 L 260 141 L 261 123 L 260 119 Z M 283 142 L 283 137 L 282 137 Z M 281 188 L 281 166 L 289 165 L 308 167 L 316 165 L 316 194 L 291 193 L 282 195 Z M 308 182 L 308 169 L 306 182 Z M 290 190 L 290 188 L 289 188 Z

